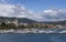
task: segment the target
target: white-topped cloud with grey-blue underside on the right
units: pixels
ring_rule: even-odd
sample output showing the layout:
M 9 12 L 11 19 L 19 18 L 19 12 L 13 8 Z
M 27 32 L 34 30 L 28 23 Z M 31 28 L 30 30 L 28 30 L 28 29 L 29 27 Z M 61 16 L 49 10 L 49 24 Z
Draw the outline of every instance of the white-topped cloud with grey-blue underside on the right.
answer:
M 59 21 L 66 20 L 66 10 L 51 9 L 44 10 L 42 17 L 46 18 L 48 21 Z

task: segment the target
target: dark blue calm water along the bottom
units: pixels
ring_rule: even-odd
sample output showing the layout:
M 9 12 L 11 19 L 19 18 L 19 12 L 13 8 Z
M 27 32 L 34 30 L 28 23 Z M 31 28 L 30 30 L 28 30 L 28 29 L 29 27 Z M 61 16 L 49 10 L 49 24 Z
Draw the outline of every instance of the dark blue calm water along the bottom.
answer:
M 66 34 L 0 34 L 0 42 L 66 42 Z

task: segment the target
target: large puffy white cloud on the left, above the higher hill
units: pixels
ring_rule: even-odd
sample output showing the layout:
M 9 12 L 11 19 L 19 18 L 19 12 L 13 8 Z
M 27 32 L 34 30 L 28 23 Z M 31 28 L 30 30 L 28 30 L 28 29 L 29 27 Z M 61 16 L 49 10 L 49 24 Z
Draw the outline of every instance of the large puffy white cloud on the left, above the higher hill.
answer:
M 26 14 L 28 11 L 24 6 L 15 4 L 0 4 L 0 15 L 3 17 L 18 17 Z

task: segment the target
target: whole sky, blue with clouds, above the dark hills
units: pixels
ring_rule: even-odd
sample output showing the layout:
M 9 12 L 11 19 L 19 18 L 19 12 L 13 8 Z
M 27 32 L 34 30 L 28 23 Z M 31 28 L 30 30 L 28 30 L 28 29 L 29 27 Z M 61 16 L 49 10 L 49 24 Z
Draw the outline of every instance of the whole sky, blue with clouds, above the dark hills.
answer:
M 0 0 L 0 15 L 36 21 L 66 20 L 66 0 Z

